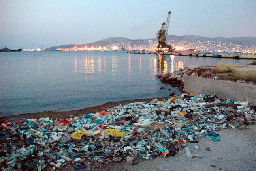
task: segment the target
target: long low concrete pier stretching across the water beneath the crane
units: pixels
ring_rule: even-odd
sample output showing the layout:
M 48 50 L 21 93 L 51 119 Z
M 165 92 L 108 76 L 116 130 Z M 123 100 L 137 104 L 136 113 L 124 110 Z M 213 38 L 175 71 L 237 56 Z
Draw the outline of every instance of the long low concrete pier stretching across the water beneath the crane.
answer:
M 200 53 L 181 53 L 181 52 L 138 52 L 128 51 L 130 54 L 160 54 L 160 55 L 176 55 L 176 56 L 193 56 L 193 57 L 212 57 L 212 58 L 234 58 L 234 59 L 254 59 L 256 55 L 243 54 L 200 54 Z

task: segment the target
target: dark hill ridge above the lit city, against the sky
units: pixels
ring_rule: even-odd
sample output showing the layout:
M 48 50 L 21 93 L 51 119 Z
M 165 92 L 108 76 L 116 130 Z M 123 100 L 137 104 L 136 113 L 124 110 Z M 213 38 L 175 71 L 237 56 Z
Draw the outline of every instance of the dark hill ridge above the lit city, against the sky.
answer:
M 132 40 L 127 39 L 124 37 L 111 37 L 108 39 L 103 39 L 100 41 L 96 41 L 94 43 L 86 43 L 83 45 L 60 45 L 55 46 L 51 48 L 47 48 L 47 50 L 56 50 L 58 48 L 72 48 L 74 46 L 77 46 L 78 48 L 84 48 L 87 46 L 88 48 L 91 47 L 103 47 L 107 45 L 111 45 L 114 43 L 128 43 L 128 44 L 136 44 L 136 45 L 149 45 L 149 40 L 153 42 L 157 42 L 156 38 L 152 39 L 140 39 L 140 40 Z M 196 36 L 196 35 L 184 35 L 184 36 L 176 36 L 176 35 L 168 35 L 167 40 L 171 42 L 172 44 L 177 44 L 181 41 L 221 41 L 221 42 L 227 42 L 227 43 L 236 43 L 237 45 L 241 46 L 252 46 L 256 45 L 256 37 L 232 37 L 232 38 L 224 38 L 224 37 L 216 37 L 216 38 L 209 38 L 209 37 L 202 37 L 202 36 Z

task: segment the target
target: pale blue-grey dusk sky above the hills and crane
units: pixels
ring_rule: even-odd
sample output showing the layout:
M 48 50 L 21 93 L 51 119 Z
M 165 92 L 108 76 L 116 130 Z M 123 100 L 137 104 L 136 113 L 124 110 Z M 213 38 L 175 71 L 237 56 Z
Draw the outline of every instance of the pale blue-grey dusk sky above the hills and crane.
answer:
M 256 0 L 0 0 L 0 48 L 36 49 L 109 37 L 256 36 Z

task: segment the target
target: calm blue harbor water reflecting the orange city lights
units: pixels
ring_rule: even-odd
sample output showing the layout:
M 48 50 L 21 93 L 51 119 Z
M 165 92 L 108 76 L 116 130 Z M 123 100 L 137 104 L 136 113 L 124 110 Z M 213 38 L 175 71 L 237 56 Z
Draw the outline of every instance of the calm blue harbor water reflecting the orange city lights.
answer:
M 155 75 L 188 65 L 247 62 L 118 51 L 0 52 L 0 112 L 67 111 L 126 99 L 168 97 L 181 92 Z

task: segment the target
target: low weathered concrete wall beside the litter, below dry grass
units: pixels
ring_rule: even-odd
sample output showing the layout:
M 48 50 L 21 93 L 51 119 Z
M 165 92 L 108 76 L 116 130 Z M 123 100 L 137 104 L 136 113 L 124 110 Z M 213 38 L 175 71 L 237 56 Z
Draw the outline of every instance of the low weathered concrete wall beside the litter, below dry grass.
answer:
M 246 102 L 256 105 L 256 85 L 184 75 L 186 93 L 217 95 L 219 98 Z

